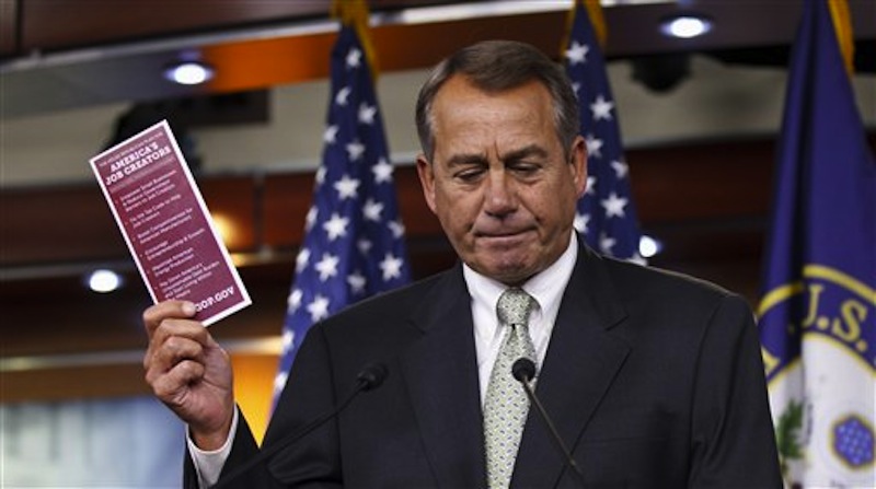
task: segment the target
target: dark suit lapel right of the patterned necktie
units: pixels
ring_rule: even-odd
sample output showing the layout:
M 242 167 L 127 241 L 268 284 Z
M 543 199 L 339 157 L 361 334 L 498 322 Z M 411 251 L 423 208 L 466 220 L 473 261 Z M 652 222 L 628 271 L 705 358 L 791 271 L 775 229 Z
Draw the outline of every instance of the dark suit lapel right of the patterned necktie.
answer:
M 604 267 L 589 248 L 579 247 L 538 377 L 537 395 L 573 452 L 630 350 L 610 331 L 625 313 Z M 535 409 L 530 409 L 512 486 L 558 484 L 565 461 L 550 436 Z

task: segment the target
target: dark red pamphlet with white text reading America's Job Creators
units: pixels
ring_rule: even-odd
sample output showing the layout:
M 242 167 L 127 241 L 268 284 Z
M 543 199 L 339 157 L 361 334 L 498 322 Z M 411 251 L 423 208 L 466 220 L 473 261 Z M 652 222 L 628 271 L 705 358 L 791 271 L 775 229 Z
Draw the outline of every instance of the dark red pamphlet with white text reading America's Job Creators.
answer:
M 252 303 L 166 120 L 90 163 L 154 302 L 191 301 L 205 326 Z

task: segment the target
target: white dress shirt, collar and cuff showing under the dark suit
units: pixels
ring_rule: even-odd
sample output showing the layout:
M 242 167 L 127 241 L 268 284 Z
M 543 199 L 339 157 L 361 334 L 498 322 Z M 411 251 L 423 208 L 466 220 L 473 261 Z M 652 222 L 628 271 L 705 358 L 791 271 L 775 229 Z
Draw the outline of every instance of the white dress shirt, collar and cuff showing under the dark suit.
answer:
M 575 268 L 575 260 L 578 258 L 578 238 L 576 233 L 572 233 L 566 251 L 554 261 L 553 265 L 529 279 L 521 289 L 535 299 L 538 305 L 529 318 L 529 335 L 535 347 L 537 376 L 548 353 L 548 344 L 551 341 L 551 333 L 554 329 L 556 314 L 560 312 L 560 302 L 563 292 L 566 290 L 572 270 Z M 498 356 L 502 346 L 503 331 L 499 328 L 496 315 L 496 304 L 499 295 L 508 287 L 487 278 L 472 270 L 468 265 L 462 266 L 462 275 L 469 294 L 472 298 L 472 319 L 474 322 L 474 347 L 477 354 L 477 374 L 481 382 L 481 405 L 486 397 L 486 388 L 489 385 L 489 374 L 493 363 Z M 198 481 L 201 488 L 207 488 L 219 480 L 222 466 L 231 453 L 231 445 L 234 441 L 234 432 L 238 427 L 239 412 L 234 409 L 234 418 L 231 424 L 231 434 L 226 440 L 226 444 L 216 451 L 204 451 L 198 449 L 188 440 L 188 452 L 195 470 L 198 474 Z

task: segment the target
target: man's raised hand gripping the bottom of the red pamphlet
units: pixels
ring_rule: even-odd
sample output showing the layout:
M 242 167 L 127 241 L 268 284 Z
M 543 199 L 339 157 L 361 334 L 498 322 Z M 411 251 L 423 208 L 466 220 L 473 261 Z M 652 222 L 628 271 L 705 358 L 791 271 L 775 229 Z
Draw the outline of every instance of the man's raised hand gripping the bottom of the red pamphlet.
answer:
M 224 444 L 231 429 L 231 361 L 194 315 L 195 305 L 184 301 L 143 312 L 149 335 L 143 369 L 152 392 L 188 424 L 195 444 L 211 451 Z

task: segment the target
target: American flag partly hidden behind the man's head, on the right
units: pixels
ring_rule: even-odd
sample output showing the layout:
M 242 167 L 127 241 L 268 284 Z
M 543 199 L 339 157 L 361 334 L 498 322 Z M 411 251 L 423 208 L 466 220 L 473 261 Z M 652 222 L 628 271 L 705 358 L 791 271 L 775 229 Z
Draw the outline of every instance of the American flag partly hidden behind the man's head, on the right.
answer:
M 638 254 L 642 235 L 630 190 L 630 167 L 623 156 L 606 61 L 587 10 L 579 1 L 575 2 L 573 15 L 564 58 L 578 96 L 580 130 L 588 153 L 587 191 L 578 200 L 575 229 L 590 247 L 606 255 L 644 263 Z

